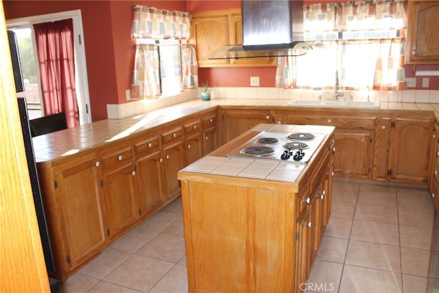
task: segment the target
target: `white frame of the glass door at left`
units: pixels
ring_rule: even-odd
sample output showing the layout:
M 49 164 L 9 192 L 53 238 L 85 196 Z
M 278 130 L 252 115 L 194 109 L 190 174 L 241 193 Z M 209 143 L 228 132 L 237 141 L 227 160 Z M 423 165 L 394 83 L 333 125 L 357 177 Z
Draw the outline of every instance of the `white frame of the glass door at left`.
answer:
M 76 97 L 78 99 L 78 108 L 80 112 L 80 125 L 91 123 L 90 96 L 88 94 L 88 78 L 84 49 L 84 32 L 82 30 L 81 10 L 70 10 L 65 12 L 57 12 L 51 14 L 42 14 L 36 16 L 23 17 L 19 19 L 8 19 L 6 27 L 23 27 L 28 26 L 32 30 L 32 44 L 34 53 L 36 54 L 36 40 L 33 25 L 35 23 L 44 23 L 48 21 L 59 21 L 62 19 L 73 19 L 73 36 L 75 42 L 75 86 Z M 35 58 L 38 62 L 38 58 Z M 36 65 L 37 78 L 40 79 L 40 70 Z M 43 97 L 40 87 L 40 97 Z M 42 104 L 44 106 L 44 104 Z

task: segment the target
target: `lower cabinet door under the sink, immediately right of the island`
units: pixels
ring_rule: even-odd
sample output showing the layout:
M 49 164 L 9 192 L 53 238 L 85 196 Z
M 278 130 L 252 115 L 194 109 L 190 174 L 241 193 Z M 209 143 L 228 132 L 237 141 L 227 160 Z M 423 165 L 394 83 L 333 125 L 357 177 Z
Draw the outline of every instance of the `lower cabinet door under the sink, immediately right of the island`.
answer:
M 334 134 L 334 172 L 337 175 L 370 178 L 372 132 L 336 130 Z

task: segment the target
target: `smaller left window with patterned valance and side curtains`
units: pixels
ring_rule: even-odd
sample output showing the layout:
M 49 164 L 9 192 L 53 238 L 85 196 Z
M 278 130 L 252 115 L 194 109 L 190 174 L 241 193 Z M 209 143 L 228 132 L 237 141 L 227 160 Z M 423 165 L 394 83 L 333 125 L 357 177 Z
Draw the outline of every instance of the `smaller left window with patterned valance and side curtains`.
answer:
M 151 99 L 198 86 L 195 49 L 187 43 L 189 31 L 189 12 L 134 6 L 132 97 Z

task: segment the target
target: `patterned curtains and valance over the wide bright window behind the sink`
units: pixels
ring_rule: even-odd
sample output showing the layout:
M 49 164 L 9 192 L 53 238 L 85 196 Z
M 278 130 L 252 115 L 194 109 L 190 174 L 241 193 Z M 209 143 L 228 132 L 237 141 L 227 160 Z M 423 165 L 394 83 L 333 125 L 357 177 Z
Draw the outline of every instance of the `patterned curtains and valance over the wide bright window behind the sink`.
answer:
M 322 45 L 294 61 L 278 58 L 276 86 L 335 89 L 335 80 L 342 89 L 405 86 L 403 39 L 389 34 L 405 27 L 403 2 L 314 4 L 305 6 L 304 17 L 305 40 Z

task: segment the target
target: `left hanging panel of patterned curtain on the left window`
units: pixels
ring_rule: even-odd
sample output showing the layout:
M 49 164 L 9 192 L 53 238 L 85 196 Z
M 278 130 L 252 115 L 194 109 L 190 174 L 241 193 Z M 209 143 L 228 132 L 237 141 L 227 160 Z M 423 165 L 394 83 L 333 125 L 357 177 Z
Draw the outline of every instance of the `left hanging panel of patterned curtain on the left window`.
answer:
M 158 47 L 156 45 L 136 45 L 132 74 L 132 96 L 139 99 L 152 99 L 161 94 L 158 65 Z

